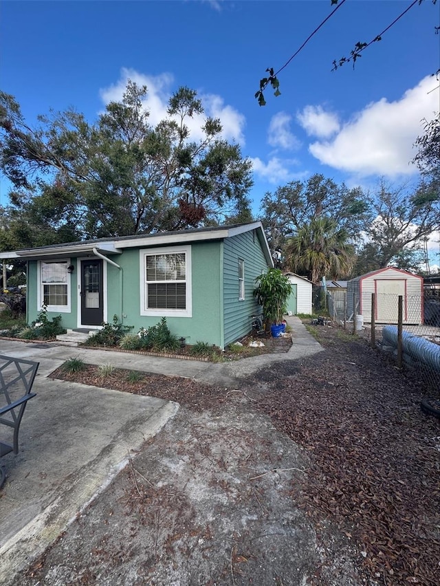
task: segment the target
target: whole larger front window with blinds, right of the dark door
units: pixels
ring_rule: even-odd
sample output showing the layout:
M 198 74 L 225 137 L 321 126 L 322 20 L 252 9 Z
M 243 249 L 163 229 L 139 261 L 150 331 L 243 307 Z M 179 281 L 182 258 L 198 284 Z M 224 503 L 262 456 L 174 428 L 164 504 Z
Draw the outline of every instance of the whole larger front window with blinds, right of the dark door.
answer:
M 142 251 L 141 259 L 141 314 L 190 317 L 190 249 Z

